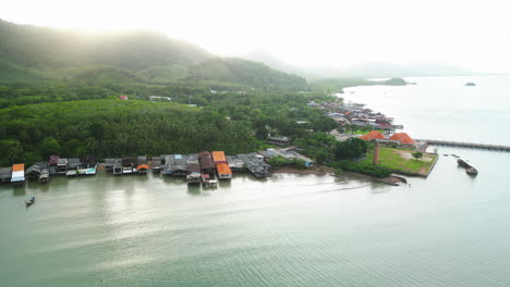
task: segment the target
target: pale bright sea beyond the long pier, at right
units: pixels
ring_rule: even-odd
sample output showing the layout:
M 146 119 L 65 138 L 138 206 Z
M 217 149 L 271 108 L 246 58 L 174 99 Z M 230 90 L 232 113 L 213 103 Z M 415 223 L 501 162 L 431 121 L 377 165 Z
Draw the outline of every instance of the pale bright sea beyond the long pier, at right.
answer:
M 414 138 L 510 146 L 510 77 L 406 80 L 417 85 L 347 88 L 341 97 L 394 117 Z

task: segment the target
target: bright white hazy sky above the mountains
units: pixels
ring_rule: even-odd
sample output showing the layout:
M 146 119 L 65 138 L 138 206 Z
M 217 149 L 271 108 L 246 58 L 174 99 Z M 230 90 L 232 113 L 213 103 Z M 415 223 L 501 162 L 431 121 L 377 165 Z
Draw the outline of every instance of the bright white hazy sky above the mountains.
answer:
M 220 55 L 268 51 L 294 64 L 442 61 L 510 72 L 510 1 L 11 0 L 24 24 L 162 32 Z

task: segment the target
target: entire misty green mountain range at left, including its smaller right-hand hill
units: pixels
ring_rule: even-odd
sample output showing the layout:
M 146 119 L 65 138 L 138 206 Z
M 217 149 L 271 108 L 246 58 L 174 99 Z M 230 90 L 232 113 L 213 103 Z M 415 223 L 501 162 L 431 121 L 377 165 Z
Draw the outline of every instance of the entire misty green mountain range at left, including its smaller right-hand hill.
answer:
M 195 45 L 154 32 L 90 34 L 0 20 L 0 82 L 180 82 L 194 86 L 229 83 L 234 84 L 232 87 L 307 88 L 302 77 L 258 62 L 215 58 Z

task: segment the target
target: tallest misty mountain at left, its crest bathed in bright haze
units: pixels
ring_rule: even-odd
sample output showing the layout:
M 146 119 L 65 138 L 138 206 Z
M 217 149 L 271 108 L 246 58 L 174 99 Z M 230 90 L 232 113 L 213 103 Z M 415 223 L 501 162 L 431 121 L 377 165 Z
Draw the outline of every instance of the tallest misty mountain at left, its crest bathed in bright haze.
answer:
M 88 34 L 0 20 L 0 63 L 13 68 L 111 65 L 126 70 L 192 65 L 211 54 L 154 32 Z

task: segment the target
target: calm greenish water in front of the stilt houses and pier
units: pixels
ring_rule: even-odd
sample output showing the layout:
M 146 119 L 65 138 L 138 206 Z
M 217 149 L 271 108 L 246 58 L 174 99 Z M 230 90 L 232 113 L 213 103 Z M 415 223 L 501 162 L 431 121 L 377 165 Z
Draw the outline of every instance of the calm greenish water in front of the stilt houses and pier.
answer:
M 478 176 L 441 155 L 399 187 L 291 174 L 211 191 L 151 174 L 0 186 L 0 286 L 510 286 L 510 153 L 438 152 Z

